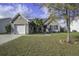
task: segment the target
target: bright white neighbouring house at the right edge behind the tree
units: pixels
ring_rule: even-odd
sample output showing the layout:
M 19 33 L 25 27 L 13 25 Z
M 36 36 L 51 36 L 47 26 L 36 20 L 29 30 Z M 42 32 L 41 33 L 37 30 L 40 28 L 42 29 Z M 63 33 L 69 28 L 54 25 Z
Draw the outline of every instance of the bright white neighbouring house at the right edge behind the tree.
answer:
M 79 32 L 79 17 L 75 17 L 75 19 L 70 24 L 71 32 Z

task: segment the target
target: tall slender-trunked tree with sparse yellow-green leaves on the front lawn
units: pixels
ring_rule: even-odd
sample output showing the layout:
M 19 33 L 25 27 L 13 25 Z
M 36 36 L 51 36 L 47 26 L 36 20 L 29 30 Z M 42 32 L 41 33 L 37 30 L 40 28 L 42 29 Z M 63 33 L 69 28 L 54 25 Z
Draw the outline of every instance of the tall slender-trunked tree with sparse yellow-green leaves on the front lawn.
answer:
M 70 39 L 70 11 L 75 11 L 78 9 L 78 4 L 73 4 L 73 3 L 57 3 L 57 4 L 41 4 L 42 6 L 45 6 L 48 8 L 49 10 L 49 13 L 50 13 L 50 16 L 49 18 L 53 18 L 55 19 L 55 11 L 58 10 L 58 11 L 62 11 L 62 15 L 63 17 L 66 19 L 66 23 L 67 23 L 67 39 L 66 39 L 66 42 L 70 43 L 71 42 L 71 39 Z M 52 16 L 53 15 L 53 16 Z M 73 16 L 74 18 L 75 16 Z

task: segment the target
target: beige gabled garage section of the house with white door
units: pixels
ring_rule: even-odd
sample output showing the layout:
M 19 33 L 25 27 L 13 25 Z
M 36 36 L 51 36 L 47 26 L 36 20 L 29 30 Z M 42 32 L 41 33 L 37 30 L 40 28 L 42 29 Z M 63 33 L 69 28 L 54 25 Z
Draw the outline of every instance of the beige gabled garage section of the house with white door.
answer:
M 18 13 L 11 22 L 11 32 L 14 34 L 29 34 L 29 22 L 30 21 L 27 18 Z

